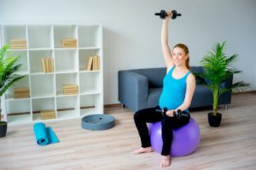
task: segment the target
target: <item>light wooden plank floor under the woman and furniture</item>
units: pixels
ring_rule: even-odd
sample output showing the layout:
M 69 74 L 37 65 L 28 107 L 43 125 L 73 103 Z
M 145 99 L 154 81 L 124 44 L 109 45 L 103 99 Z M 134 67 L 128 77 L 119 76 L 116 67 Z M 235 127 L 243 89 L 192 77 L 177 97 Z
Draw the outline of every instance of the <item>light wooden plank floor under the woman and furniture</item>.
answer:
M 221 127 L 209 127 L 207 110 L 191 111 L 199 123 L 201 143 L 189 156 L 173 157 L 166 169 L 256 169 L 256 94 L 233 95 Z M 9 127 L 0 139 L 0 169 L 160 169 L 161 156 L 152 152 L 132 155 L 140 147 L 133 112 L 110 108 L 115 127 L 106 131 L 88 131 L 80 120 L 46 123 L 61 140 L 58 144 L 35 143 L 32 124 Z

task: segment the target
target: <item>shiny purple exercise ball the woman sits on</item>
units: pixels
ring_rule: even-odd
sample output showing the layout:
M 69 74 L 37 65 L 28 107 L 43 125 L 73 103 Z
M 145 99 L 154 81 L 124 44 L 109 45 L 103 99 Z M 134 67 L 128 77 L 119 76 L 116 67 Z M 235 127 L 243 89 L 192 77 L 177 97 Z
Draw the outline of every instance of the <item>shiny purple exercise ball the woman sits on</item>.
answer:
M 161 153 L 162 130 L 161 122 L 152 123 L 149 125 L 149 134 L 152 148 Z M 189 123 L 183 127 L 173 129 L 171 156 L 186 156 L 192 153 L 200 142 L 200 129 L 198 123 L 190 117 Z

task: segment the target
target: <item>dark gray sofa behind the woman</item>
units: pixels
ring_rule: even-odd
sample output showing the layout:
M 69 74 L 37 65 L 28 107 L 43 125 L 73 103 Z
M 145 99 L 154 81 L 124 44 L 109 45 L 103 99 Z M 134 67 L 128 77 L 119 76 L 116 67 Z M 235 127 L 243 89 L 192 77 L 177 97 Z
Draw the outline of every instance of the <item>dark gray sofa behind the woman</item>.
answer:
M 193 73 L 203 72 L 203 67 L 192 66 Z M 119 102 L 138 111 L 158 105 L 163 87 L 163 78 L 166 76 L 166 67 L 119 71 Z M 233 77 L 220 86 L 229 87 Z M 231 102 L 231 93 L 224 93 L 218 99 L 218 105 L 227 108 Z M 212 92 L 197 81 L 195 94 L 189 108 L 212 106 Z

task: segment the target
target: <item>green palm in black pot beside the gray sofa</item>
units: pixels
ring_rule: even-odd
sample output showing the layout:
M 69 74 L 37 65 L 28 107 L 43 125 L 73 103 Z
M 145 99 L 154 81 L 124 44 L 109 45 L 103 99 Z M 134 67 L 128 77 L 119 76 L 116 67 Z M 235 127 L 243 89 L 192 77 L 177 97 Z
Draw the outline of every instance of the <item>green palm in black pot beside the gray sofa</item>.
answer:
M 208 113 L 208 122 L 212 127 L 218 127 L 221 122 L 222 114 L 218 113 L 218 98 L 221 94 L 230 92 L 239 92 L 249 86 L 246 82 L 236 82 L 228 88 L 222 88 L 220 84 L 232 77 L 234 74 L 241 73 L 233 64 L 238 55 L 226 56 L 224 54 L 225 42 L 217 43 L 206 56 L 201 59 L 201 65 L 204 67 L 204 73 L 197 74 L 203 84 L 212 91 L 212 112 Z

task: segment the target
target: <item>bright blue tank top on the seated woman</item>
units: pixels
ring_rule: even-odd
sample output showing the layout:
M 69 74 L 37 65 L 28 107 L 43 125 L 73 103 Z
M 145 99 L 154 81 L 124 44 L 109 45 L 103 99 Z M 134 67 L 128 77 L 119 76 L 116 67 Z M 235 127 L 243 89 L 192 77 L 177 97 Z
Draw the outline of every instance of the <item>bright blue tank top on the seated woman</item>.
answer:
M 189 76 L 190 71 L 182 78 L 175 79 L 172 77 L 172 72 L 175 66 L 166 74 L 163 80 L 163 90 L 160 95 L 159 105 L 161 109 L 165 107 L 168 110 L 177 109 L 178 106 L 183 104 L 186 94 L 186 80 Z M 187 109 L 186 111 L 189 112 Z

